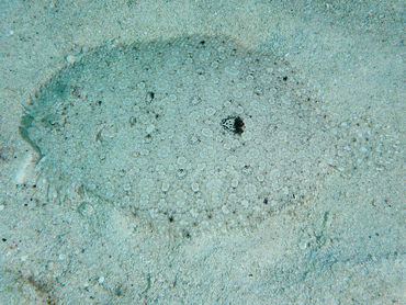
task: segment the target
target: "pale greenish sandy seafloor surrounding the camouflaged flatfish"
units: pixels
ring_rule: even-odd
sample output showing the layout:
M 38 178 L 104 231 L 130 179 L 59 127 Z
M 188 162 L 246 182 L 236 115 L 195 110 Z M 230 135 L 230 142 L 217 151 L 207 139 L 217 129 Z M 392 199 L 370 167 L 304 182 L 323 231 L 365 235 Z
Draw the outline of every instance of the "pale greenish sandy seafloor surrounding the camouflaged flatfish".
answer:
M 0 304 L 406 304 L 405 1 L 1 1 Z M 300 67 L 332 116 L 401 133 L 379 176 L 332 173 L 247 236 L 169 240 L 111 206 L 45 204 L 22 102 L 105 41 L 226 35 Z

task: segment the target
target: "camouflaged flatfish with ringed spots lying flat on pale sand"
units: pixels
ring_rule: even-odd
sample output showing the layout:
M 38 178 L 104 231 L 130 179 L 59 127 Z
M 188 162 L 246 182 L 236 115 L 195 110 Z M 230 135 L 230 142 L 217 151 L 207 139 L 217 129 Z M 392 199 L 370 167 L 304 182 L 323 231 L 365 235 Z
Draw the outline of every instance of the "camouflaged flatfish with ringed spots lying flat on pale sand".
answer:
M 201 35 L 89 52 L 36 92 L 21 129 L 60 200 L 81 188 L 183 237 L 250 231 L 328 172 L 397 152 L 371 118 L 330 122 L 284 60 Z

